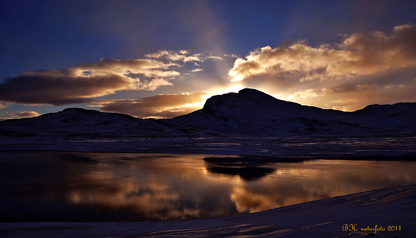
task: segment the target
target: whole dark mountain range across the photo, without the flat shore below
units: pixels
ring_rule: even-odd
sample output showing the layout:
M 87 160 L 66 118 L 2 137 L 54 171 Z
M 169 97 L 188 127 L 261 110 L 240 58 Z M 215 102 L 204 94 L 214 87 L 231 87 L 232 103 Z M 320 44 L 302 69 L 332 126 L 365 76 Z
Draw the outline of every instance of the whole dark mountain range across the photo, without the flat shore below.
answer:
M 355 112 L 304 106 L 255 89 L 210 97 L 204 107 L 173 119 L 67 108 L 34 118 L 0 121 L 0 135 L 60 138 L 192 137 L 198 133 L 254 135 L 359 135 L 416 132 L 416 103 L 370 105 Z M 213 134 L 214 133 L 214 134 Z

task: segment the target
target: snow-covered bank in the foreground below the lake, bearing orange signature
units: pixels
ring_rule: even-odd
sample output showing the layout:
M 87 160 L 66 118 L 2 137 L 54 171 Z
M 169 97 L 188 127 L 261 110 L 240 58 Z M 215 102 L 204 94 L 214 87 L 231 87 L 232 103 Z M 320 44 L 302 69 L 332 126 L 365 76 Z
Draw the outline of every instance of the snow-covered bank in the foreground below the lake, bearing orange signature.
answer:
M 208 220 L 1 223 L 0 236 L 415 237 L 415 201 L 416 184 L 412 184 L 316 200 L 254 214 Z

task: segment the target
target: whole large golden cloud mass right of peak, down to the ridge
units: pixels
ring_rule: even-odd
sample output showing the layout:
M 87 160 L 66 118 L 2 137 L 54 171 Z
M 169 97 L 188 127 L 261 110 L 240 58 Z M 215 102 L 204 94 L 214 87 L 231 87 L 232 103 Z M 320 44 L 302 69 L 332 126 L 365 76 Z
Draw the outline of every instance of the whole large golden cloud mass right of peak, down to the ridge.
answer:
M 229 75 L 233 82 L 266 85 L 270 93 L 326 108 L 414 101 L 409 92 L 416 83 L 415 42 L 416 25 L 407 24 L 391 34 L 348 35 L 335 45 L 266 46 L 236 59 Z M 347 105 L 333 103 L 345 98 Z M 359 103 L 351 105 L 355 101 Z

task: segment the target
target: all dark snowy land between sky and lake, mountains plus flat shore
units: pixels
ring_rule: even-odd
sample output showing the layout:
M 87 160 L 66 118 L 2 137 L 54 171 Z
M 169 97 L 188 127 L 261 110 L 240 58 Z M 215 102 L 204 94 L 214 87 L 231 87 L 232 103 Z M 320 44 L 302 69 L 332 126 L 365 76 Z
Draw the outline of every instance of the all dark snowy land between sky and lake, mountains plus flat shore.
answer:
M 416 156 L 416 103 L 355 112 L 276 99 L 254 89 L 215 95 L 173 119 L 67 108 L 0 121 L 0 150 L 269 156 Z

